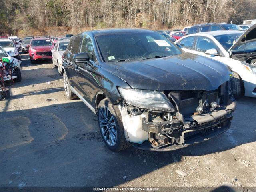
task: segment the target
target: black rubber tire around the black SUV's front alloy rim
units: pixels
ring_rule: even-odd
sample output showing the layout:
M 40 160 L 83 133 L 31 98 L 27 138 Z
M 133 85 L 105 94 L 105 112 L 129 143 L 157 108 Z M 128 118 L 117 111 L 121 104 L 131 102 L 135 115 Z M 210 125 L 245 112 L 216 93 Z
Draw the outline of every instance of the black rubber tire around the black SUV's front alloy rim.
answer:
M 111 112 L 113 118 L 114 118 L 114 122 L 115 122 L 115 127 L 116 127 L 116 143 L 114 144 L 114 146 L 110 146 L 110 144 L 108 144 L 108 142 L 104 139 L 101 127 L 100 127 L 100 114 L 99 114 L 99 110 L 101 107 L 107 107 L 108 110 Z M 108 99 L 103 99 L 100 101 L 99 105 L 98 105 L 98 124 L 99 124 L 99 129 L 100 129 L 100 134 L 102 136 L 102 139 L 104 141 L 104 143 L 106 144 L 106 146 L 114 151 L 114 152 L 119 152 L 122 150 L 125 150 L 127 148 L 129 148 L 131 146 L 131 144 L 129 142 L 126 141 L 126 138 L 124 136 L 124 126 L 122 123 L 122 117 L 120 114 L 120 111 L 118 109 L 118 106 L 114 106 L 112 105 L 112 103 L 108 100 Z

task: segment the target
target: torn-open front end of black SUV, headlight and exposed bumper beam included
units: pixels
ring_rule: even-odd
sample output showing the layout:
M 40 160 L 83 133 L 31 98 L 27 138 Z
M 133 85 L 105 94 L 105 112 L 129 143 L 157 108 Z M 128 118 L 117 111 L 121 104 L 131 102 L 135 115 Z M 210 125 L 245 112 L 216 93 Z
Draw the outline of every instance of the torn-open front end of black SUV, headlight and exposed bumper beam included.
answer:
M 118 90 L 126 140 L 146 150 L 176 150 L 213 138 L 230 128 L 236 107 L 229 81 L 212 91 Z

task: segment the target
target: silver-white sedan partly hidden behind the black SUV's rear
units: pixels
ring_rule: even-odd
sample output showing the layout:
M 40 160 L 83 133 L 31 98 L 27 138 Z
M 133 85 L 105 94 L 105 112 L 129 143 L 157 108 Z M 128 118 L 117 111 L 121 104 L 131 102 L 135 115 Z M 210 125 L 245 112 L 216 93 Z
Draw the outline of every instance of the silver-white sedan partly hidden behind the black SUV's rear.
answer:
M 52 49 L 53 68 L 58 68 L 60 75 L 62 74 L 62 55 L 66 51 L 69 41 L 70 39 L 58 41 Z

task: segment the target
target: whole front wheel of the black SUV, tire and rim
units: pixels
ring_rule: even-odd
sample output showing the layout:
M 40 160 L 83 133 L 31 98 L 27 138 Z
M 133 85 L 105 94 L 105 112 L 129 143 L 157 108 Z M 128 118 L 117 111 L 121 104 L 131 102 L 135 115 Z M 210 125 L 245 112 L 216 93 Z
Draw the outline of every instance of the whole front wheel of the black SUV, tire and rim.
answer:
M 119 152 L 130 147 L 124 136 L 119 109 L 108 99 L 102 100 L 98 105 L 98 123 L 102 139 L 110 150 Z

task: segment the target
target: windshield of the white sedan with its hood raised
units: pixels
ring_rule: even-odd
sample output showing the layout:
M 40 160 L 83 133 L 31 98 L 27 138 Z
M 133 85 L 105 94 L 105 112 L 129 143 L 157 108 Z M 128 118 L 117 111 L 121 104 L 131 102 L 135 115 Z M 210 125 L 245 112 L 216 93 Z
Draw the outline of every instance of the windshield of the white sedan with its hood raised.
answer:
M 224 47 L 224 49 L 228 50 L 230 47 L 238 40 L 238 38 L 243 33 L 234 33 L 234 34 L 225 34 L 225 35 L 218 35 L 214 36 L 218 42 Z

